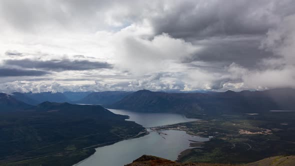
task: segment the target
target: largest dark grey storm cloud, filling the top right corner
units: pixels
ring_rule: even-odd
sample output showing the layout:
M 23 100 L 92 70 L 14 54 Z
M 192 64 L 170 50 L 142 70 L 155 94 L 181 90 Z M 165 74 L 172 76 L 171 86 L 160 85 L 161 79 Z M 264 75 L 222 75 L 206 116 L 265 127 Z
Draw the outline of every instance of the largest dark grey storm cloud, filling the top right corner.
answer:
M 154 17 L 152 25 L 157 34 L 186 39 L 265 34 L 294 6 L 294 0 L 186 0 Z

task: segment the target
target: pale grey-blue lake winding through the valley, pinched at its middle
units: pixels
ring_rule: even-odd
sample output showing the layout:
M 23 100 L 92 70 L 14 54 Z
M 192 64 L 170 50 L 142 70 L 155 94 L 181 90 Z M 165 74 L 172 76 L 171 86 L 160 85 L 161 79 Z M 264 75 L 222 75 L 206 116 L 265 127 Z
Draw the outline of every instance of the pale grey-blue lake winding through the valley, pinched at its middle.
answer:
M 186 118 L 184 115 L 175 113 L 142 113 L 118 109 L 109 110 L 116 114 L 128 115 L 130 118 L 126 120 L 135 121 L 144 127 L 198 120 Z M 189 143 L 191 142 L 189 140 L 207 141 L 209 138 L 189 135 L 185 131 L 180 130 L 153 131 L 139 138 L 122 140 L 111 145 L 98 147 L 93 155 L 75 165 L 121 166 L 132 162 L 143 154 L 176 160 L 181 151 L 191 148 L 189 147 Z

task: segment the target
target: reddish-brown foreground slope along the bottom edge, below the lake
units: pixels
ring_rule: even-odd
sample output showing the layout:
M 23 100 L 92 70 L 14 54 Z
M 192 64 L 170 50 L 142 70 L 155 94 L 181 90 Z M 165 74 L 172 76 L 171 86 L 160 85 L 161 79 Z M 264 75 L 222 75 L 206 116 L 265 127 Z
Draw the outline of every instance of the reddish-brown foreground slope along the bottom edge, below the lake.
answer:
M 125 166 L 230 166 L 233 164 L 221 164 L 221 163 L 179 163 L 168 159 L 142 155 L 135 159 L 132 163 L 126 164 Z M 292 166 L 295 165 L 295 156 L 274 156 L 264 158 L 262 160 L 248 163 L 248 164 L 237 164 L 236 166 L 260 166 L 260 165 L 272 165 L 272 166 Z

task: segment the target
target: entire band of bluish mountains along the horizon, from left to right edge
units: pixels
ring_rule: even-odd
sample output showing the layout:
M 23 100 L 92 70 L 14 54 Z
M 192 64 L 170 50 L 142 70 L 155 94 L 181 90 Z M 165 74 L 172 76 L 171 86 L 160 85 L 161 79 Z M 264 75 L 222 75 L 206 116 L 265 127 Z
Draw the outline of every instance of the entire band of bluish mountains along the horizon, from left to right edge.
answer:
M 174 112 L 183 113 L 187 116 L 221 114 L 224 112 L 259 113 L 272 109 L 295 110 L 295 89 L 292 88 L 195 93 L 166 93 L 149 90 L 135 92 L 14 92 L 11 95 L 1 93 L 0 97 L 2 110 L 26 108 L 29 105 L 36 105 L 44 101 L 102 104 L 105 107 L 115 109 L 142 112 Z M 69 101 L 68 98 L 80 99 Z M 11 103 L 10 108 L 9 103 Z

